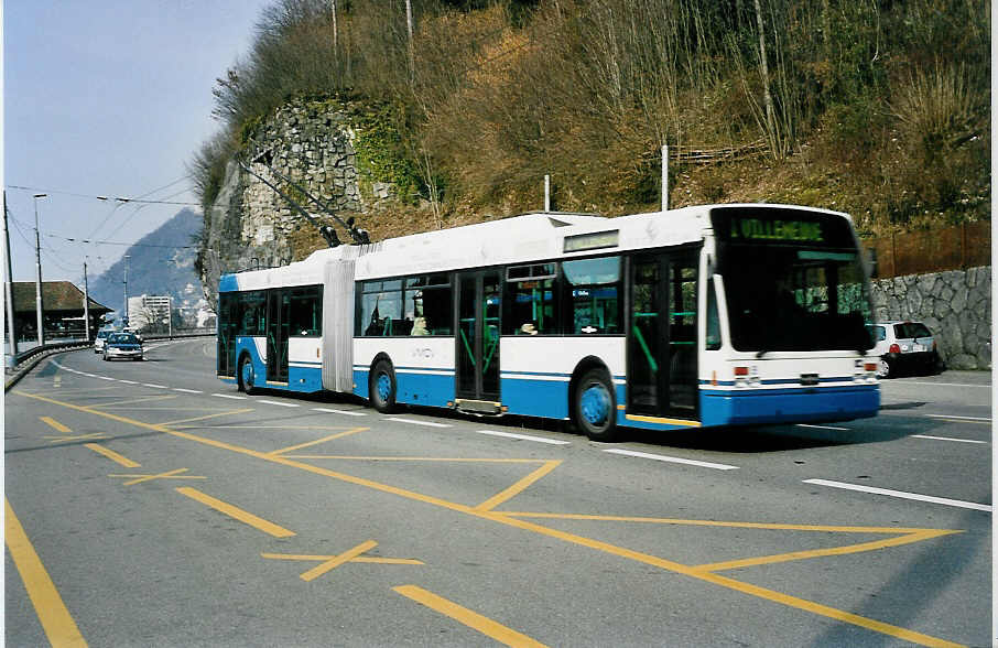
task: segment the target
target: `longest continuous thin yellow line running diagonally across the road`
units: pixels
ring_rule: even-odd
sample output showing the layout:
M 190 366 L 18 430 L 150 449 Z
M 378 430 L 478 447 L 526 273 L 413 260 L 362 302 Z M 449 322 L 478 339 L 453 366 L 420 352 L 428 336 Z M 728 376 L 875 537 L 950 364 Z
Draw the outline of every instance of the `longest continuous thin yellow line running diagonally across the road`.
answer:
M 372 482 L 370 479 L 355 477 L 352 475 L 347 475 L 345 473 L 337 473 L 334 471 L 323 468 L 321 466 L 314 466 L 312 464 L 305 464 L 305 463 L 292 461 L 284 456 L 269 455 L 267 453 L 258 452 L 258 451 L 254 451 L 254 450 L 251 450 L 248 447 L 232 445 L 230 443 L 225 443 L 223 441 L 217 441 L 215 439 L 209 439 L 206 436 L 198 436 L 196 434 L 191 434 L 187 432 L 180 432 L 176 430 L 171 430 L 163 425 L 156 425 L 154 423 L 145 423 L 143 421 L 128 419 L 126 417 L 120 417 L 117 414 L 112 414 L 110 412 L 104 412 L 100 410 L 95 410 L 91 408 L 77 406 L 77 404 L 69 403 L 69 402 L 62 402 L 62 401 L 55 400 L 53 398 L 48 398 L 48 397 L 41 396 L 41 395 L 28 393 L 28 392 L 24 392 L 21 390 L 14 390 L 14 393 L 17 393 L 19 396 L 24 396 L 26 398 L 33 398 L 35 400 L 40 400 L 43 402 L 62 406 L 67 409 L 87 412 L 87 413 L 96 414 L 99 417 L 105 417 L 105 418 L 108 418 L 108 419 L 111 419 L 115 421 L 119 421 L 122 423 L 129 423 L 137 428 L 153 430 L 155 432 L 171 434 L 171 435 L 180 438 L 180 439 L 187 439 L 189 441 L 195 441 L 195 442 L 204 444 L 204 445 L 218 447 L 218 449 L 223 449 L 223 450 L 228 450 L 231 452 L 261 458 L 264 461 L 269 461 L 269 462 L 272 462 L 275 464 L 281 464 L 284 466 L 289 466 L 289 467 L 295 467 L 301 471 L 305 471 L 305 472 L 313 473 L 316 475 L 324 475 L 326 477 L 330 477 L 333 479 L 338 479 L 338 480 L 345 482 L 347 484 L 354 484 L 357 486 L 371 488 L 373 490 L 379 490 L 381 493 L 398 495 L 400 497 L 412 499 L 414 501 L 422 501 L 424 504 L 438 506 L 438 507 L 454 510 L 457 512 L 476 516 L 476 517 L 479 517 L 482 519 L 495 521 L 500 525 L 506 525 L 506 526 L 522 529 L 525 531 L 532 531 L 532 532 L 539 533 L 541 536 L 546 536 L 549 538 L 555 538 L 555 539 L 562 540 L 564 542 L 577 544 L 579 547 L 587 547 L 587 548 L 596 550 L 596 551 L 603 551 L 603 552 L 611 554 L 611 555 L 617 555 L 619 558 L 626 558 L 629 560 L 633 560 L 636 562 L 657 566 L 657 568 L 668 570 L 671 572 L 675 572 L 679 574 L 683 574 L 683 575 L 686 575 L 686 576 L 690 576 L 690 577 L 693 577 L 693 579 L 696 579 L 699 581 L 704 581 L 707 583 L 719 585 L 722 587 L 734 590 L 736 592 L 741 592 L 744 594 L 757 596 L 757 597 L 763 598 L 766 601 L 770 601 L 773 603 L 779 603 L 781 605 L 787 605 L 789 607 L 794 607 L 796 609 L 805 611 L 811 614 L 825 616 L 825 617 L 840 620 L 844 623 L 853 624 L 853 625 L 856 625 L 856 626 L 859 626 L 863 628 L 867 628 L 867 629 L 870 629 L 870 630 L 874 630 L 877 633 L 890 635 L 892 637 L 902 638 L 907 641 L 912 641 L 912 642 L 921 644 L 924 646 L 958 646 L 958 644 L 945 641 L 943 639 L 939 639 L 939 638 L 932 637 L 930 635 L 923 635 L 921 633 L 915 633 L 913 630 L 909 630 L 909 629 L 901 628 L 898 626 L 892 626 L 890 624 L 885 624 L 885 623 L 878 622 L 876 619 L 870 619 L 870 618 L 861 617 L 858 615 L 854 615 L 854 614 L 850 614 L 850 613 L 847 613 L 847 612 L 844 612 L 840 609 L 835 609 L 833 607 L 813 603 L 813 602 L 806 601 L 804 598 L 798 598 L 795 596 L 790 596 L 790 595 L 783 594 L 781 592 L 767 590 L 764 587 L 757 587 L 755 585 L 748 585 L 746 583 L 736 581 L 734 579 L 728 579 L 725 576 L 720 576 L 718 574 L 697 570 L 694 566 L 684 565 L 679 562 L 665 560 L 665 559 L 662 559 L 662 558 L 659 558 L 655 555 L 650 555 L 647 553 L 641 553 L 639 551 L 633 551 L 630 549 L 626 549 L 623 547 L 617 547 L 615 544 L 609 544 L 607 542 L 601 542 L 599 540 L 594 540 L 592 538 L 585 538 L 583 536 L 576 536 L 574 533 L 566 533 L 564 531 L 558 531 L 557 529 L 552 529 L 552 528 L 544 527 L 541 525 L 535 525 L 535 523 L 529 522 L 527 520 L 517 519 L 517 518 L 512 517 L 511 515 L 498 514 L 495 511 L 475 510 L 474 508 L 471 508 L 469 506 L 465 506 L 465 505 L 457 504 L 454 501 L 448 501 L 446 499 L 441 499 L 438 497 L 423 495 L 422 493 L 415 493 L 412 490 L 406 490 L 404 488 L 398 488 L 395 486 L 390 486 L 388 484 L 381 484 L 379 482 Z

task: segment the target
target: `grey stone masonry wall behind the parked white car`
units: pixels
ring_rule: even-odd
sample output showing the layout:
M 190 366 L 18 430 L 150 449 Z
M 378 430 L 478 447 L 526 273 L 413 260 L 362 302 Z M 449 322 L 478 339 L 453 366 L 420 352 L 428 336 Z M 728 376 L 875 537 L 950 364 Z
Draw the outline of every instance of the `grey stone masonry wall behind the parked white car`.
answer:
M 991 367 L 991 268 L 910 274 L 872 282 L 880 322 L 924 322 L 951 369 Z

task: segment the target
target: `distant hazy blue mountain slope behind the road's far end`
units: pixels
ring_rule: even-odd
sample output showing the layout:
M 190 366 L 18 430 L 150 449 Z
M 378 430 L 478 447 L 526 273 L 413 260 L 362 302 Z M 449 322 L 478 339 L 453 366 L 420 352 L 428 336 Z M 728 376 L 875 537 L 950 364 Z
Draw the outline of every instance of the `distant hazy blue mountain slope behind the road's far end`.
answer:
M 193 237 L 200 231 L 203 218 L 182 209 L 154 231 L 143 236 L 126 255 L 128 294 L 172 295 L 180 306 L 185 300 L 202 299 L 200 278 L 194 269 L 196 250 Z M 90 296 L 101 304 L 121 310 L 124 299 L 124 259 L 89 282 Z M 188 285 L 194 287 L 192 292 Z

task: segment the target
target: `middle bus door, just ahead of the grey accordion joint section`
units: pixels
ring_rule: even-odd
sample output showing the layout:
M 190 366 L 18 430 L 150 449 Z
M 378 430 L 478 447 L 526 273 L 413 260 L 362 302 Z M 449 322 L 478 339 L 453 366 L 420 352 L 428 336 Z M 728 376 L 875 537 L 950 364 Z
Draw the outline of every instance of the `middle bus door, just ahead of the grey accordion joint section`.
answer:
M 501 295 L 502 278 L 498 270 L 457 274 L 458 400 L 499 402 Z

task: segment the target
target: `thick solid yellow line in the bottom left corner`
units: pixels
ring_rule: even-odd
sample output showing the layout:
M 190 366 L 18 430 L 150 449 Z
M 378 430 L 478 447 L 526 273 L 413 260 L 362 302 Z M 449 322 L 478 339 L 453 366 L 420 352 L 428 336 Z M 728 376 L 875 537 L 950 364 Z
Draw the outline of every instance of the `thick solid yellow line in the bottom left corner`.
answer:
M 34 612 L 39 616 L 45 636 L 48 642 L 55 647 L 64 646 L 86 646 L 76 622 L 63 603 L 55 583 L 45 571 L 45 565 L 39 558 L 37 552 L 28 539 L 24 527 L 14 515 L 10 501 L 3 498 L 4 512 L 4 539 L 10 557 L 21 574 L 21 581 L 24 582 L 24 588 L 28 590 L 28 597 L 34 606 Z

